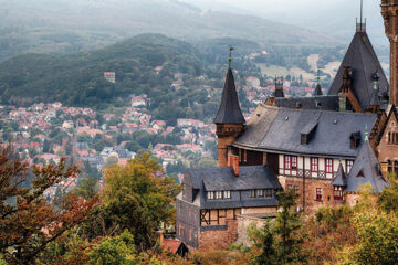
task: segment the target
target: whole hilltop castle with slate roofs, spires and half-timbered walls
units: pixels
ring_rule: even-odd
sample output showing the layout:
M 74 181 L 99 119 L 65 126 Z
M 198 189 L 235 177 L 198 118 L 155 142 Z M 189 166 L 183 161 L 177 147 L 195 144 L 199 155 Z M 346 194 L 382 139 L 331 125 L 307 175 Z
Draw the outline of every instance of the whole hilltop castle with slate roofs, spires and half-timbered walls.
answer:
M 276 192 L 294 190 L 297 211 L 354 205 L 398 172 L 398 0 L 383 0 L 390 41 L 388 83 L 360 20 L 327 95 L 274 96 L 245 121 L 228 68 L 214 118 L 218 167 L 188 169 L 176 198 L 177 237 L 193 248 L 227 248 L 248 222 L 275 216 Z M 230 59 L 231 60 L 231 59 Z

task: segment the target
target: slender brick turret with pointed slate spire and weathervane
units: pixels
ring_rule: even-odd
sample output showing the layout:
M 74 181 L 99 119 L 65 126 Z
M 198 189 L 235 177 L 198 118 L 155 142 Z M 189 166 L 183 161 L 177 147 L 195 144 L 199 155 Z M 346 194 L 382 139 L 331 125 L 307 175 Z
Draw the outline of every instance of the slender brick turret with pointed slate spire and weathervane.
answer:
M 245 124 L 239 106 L 237 88 L 231 70 L 232 50 L 233 49 L 230 47 L 229 67 L 222 91 L 221 105 L 213 120 L 217 126 L 216 135 L 218 137 L 218 167 L 228 166 L 228 147 L 231 146 L 237 137 L 242 132 Z

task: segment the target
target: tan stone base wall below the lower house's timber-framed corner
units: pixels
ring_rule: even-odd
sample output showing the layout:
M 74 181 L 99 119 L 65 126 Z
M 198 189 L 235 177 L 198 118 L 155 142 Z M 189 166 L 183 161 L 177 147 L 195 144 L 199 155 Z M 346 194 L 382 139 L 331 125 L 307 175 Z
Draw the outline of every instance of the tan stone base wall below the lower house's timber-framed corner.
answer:
M 238 239 L 238 221 L 227 220 L 227 230 L 199 232 L 199 250 L 228 250 Z

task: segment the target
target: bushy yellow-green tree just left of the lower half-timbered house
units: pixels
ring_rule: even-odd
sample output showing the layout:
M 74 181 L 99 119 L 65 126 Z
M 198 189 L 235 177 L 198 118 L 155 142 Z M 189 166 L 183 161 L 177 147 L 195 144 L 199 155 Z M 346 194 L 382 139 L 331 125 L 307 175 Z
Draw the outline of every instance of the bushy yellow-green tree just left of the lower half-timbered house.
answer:
M 149 153 L 137 155 L 126 167 L 105 169 L 101 206 L 92 213 L 85 236 L 107 236 L 128 229 L 137 246 L 150 247 L 161 223 L 174 223 L 171 203 L 180 190 L 171 178 L 157 177 L 160 171 Z

